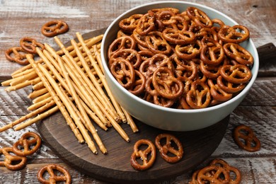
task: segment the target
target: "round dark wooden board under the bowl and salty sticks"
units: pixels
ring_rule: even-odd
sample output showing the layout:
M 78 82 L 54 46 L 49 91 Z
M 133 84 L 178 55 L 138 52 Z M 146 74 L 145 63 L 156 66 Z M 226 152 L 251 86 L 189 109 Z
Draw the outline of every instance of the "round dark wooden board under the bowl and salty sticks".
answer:
M 96 30 L 84 34 L 83 37 L 91 38 L 104 31 L 105 29 Z M 105 132 L 97 127 L 100 139 L 108 149 L 108 154 L 102 154 L 98 149 L 97 155 L 88 149 L 87 144 L 78 142 L 61 113 L 47 117 L 37 123 L 37 127 L 44 143 L 57 156 L 88 176 L 113 183 L 154 183 L 179 176 L 205 161 L 222 141 L 229 116 L 211 127 L 190 132 L 169 132 L 150 127 L 138 120 L 135 122 L 139 128 L 139 132 L 136 133 L 132 132 L 129 125 L 121 124 L 130 137 L 130 142 L 125 142 L 114 128 Z M 183 159 L 178 163 L 167 163 L 157 151 L 154 166 L 146 171 L 134 170 L 130 165 L 134 143 L 139 139 L 150 139 L 154 142 L 155 137 L 164 132 L 174 134 L 180 139 L 184 148 Z

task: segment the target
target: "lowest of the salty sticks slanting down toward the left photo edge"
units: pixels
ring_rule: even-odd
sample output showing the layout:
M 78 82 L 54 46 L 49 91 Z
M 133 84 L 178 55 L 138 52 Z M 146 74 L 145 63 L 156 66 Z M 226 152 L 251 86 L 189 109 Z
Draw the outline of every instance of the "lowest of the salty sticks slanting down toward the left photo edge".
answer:
M 46 117 L 56 113 L 59 110 L 59 107 L 54 106 L 54 108 L 51 108 L 50 110 L 47 110 L 45 113 L 39 114 L 36 117 L 33 117 L 33 119 L 30 119 L 28 121 L 22 122 L 21 124 L 19 124 L 17 127 L 14 128 L 14 130 L 18 131 L 18 130 L 22 130 L 25 127 L 28 127 L 30 125 L 32 125 L 35 122 L 38 122 L 40 120 L 45 119 Z M 80 137 L 78 138 L 79 142 L 84 142 L 84 139 L 81 137 L 81 134 L 79 134 Z

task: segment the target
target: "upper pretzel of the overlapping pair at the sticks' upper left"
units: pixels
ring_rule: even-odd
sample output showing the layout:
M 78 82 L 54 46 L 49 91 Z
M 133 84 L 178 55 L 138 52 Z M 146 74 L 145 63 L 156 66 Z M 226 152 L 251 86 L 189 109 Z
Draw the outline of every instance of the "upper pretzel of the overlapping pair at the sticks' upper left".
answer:
M 25 37 L 20 40 L 20 46 L 25 52 L 36 54 L 35 47 L 40 47 L 41 50 L 45 49 L 44 44 L 37 42 L 34 38 Z

